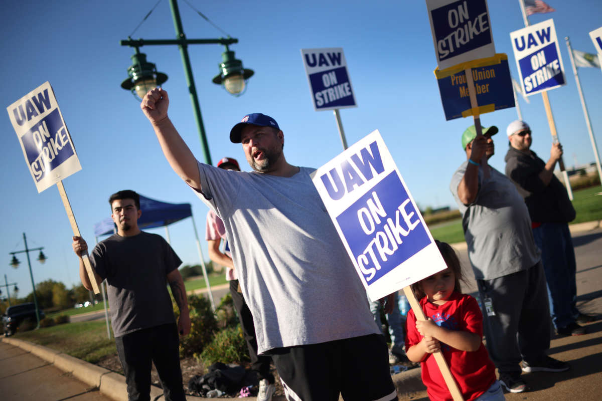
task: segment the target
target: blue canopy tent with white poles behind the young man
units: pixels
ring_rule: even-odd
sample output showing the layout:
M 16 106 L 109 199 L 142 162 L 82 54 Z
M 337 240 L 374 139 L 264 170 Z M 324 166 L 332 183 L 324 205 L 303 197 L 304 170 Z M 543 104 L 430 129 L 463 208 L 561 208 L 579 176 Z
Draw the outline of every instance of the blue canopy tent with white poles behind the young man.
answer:
M 143 195 L 140 195 L 140 210 L 142 210 L 142 215 L 138 219 L 138 227 L 141 230 L 148 228 L 156 228 L 156 227 L 165 227 L 167 242 L 170 242 L 169 239 L 169 230 L 167 230 L 167 226 L 180 221 L 182 219 L 190 217 L 192 220 L 192 225 L 194 228 L 194 236 L 196 237 L 196 246 L 199 251 L 200 257 L 200 265 L 203 269 L 203 277 L 205 278 L 205 284 L 207 286 L 207 291 L 209 295 L 209 301 L 211 301 L 211 307 L 213 310 L 216 309 L 215 301 L 213 299 L 213 293 L 211 293 L 211 286 L 209 286 L 209 279 L 207 277 L 207 272 L 205 268 L 205 262 L 203 260 L 203 253 L 200 248 L 199 242 L 199 234 L 196 231 L 196 224 L 194 224 L 194 217 L 192 215 L 192 209 L 190 207 L 190 203 L 167 203 L 161 202 L 155 199 L 147 198 Z M 102 235 L 109 235 L 116 233 L 117 229 L 113 219 L 107 217 L 102 219 L 98 223 L 94 225 L 94 234 L 96 236 L 96 242 L 98 242 L 98 237 Z M 104 286 L 102 287 L 102 295 L 104 298 Z M 105 302 L 105 313 L 106 313 L 106 302 Z M 110 337 L 110 332 L 108 331 L 108 315 L 107 315 L 107 332 Z

